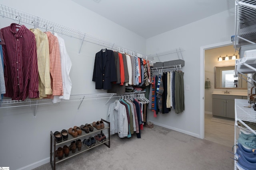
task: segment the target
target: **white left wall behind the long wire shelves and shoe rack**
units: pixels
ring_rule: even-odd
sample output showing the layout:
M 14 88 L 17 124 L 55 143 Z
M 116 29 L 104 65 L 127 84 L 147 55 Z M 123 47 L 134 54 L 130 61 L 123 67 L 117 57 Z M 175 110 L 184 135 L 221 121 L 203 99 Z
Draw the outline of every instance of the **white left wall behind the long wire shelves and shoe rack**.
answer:
M 60 3 L 61 2 L 61 3 Z M 146 52 L 146 40 L 120 25 L 83 8 L 70 0 L 0 0 L 12 8 L 22 10 L 62 24 L 101 39 L 124 45 L 128 49 Z M 0 17 L 0 28 L 18 21 Z M 28 28 L 33 25 L 26 25 Z M 41 29 L 42 31 L 45 31 Z M 84 42 L 80 55 L 81 40 L 64 38 L 67 51 L 72 61 L 70 78 L 72 80 L 71 94 L 103 93 L 105 90 L 95 90 L 92 82 L 95 53 L 103 47 Z M 10 169 L 32 169 L 50 162 L 50 131 L 61 131 L 70 127 L 92 123 L 101 118 L 106 119 L 108 99 L 86 100 L 80 102 L 64 102 L 60 104 L 40 105 L 36 118 L 35 106 L 0 108 L 0 166 L 10 166 Z M 100 106 L 100 107 L 99 107 Z

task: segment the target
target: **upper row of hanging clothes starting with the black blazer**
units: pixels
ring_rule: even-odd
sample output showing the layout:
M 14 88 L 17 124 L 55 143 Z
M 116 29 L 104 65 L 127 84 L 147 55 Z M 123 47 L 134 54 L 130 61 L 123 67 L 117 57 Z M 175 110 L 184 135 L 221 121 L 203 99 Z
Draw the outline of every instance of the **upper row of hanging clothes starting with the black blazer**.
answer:
M 150 62 L 117 51 L 102 49 L 95 55 L 92 81 L 96 89 L 124 94 L 134 90 L 132 86 L 149 86 Z

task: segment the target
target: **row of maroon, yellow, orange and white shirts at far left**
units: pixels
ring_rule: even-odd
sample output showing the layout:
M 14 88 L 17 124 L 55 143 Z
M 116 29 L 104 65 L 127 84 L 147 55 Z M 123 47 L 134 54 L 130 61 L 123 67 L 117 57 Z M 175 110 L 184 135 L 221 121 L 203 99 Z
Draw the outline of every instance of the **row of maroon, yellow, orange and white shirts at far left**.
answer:
M 69 100 L 72 66 L 64 39 L 56 33 L 12 23 L 0 29 L 6 93 L 12 100 L 51 98 L 52 102 Z

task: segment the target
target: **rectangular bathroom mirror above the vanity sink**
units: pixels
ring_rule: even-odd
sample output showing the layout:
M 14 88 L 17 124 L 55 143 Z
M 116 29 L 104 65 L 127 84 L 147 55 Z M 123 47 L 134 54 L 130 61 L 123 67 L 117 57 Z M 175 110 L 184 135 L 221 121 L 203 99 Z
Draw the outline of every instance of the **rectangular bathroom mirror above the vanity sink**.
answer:
M 246 82 L 247 77 L 241 74 L 239 74 L 239 76 L 235 76 L 235 65 L 215 66 L 214 69 L 215 69 L 215 88 L 247 89 L 247 82 Z

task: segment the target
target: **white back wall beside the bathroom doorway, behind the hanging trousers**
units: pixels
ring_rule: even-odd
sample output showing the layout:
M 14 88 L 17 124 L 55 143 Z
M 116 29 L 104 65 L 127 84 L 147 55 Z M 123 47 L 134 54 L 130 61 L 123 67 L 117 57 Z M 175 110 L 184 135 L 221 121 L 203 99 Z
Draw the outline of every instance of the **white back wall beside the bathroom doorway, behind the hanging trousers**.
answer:
M 203 127 L 202 123 L 200 125 L 200 120 L 202 121 L 200 111 L 203 105 L 201 106 L 200 102 L 202 102 L 203 96 L 200 96 L 200 81 L 203 79 L 204 82 L 204 77 L 200 77 L 200 69 L 203 69 L 200 68 L 200 47 L 231 41 L 232 35 L 234 35 L 234 9 L 147 39 L 147 54 L 168 51 L 178 47 L 182 47 L 185 50 L 182 52 L 185 61 L 185 66 L 182 67 L 184 71 L 184 86 L 190 86 L 190 90 L 184 91 L 184 112 L 176 114 L 172 110 L 168 114 L 158 114 L 154 118 L 153 113 L 149 111 L 148 120 L 157 125 L 195 137 L 202 137 L 200 133 L 202 133 Z M 161 62 L 178 59 L 175 54 L 159 58 Z M 157 61 L 156 59 L 154 62 Z

